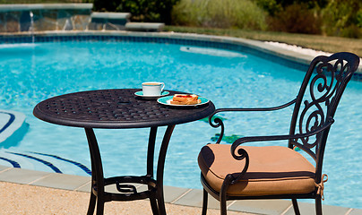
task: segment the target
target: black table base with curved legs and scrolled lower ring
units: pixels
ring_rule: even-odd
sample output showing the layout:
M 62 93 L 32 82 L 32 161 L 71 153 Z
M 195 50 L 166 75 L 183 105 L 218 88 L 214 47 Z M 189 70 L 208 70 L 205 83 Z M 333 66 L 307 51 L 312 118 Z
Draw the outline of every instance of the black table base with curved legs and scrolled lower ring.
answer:
M 91 193 L 88 215 L 94 214 L 97 205 L 97 214 L 103 214 L 104 203 L 111 201 L 134 201 L 150 199 L 153 214 L 166 214 L 163 198 L 163 169 L 168 149 L 168 142 L 175 125 L 169 125 L 163 137 L 159 150 L 157 167 L 157 180 L 153 178 L 153 158 L 156 141 L 157 127 L 151 127 L 148 152 L 147 152 L 147 175 L 146 176 L 115 176 L 104 178 L 99 146 L 95 133 L 91 128 L 85 128 L 90 147 L 91 161 Z M 148 185 L 148 190 L 138 192 L 131 184 Z M 105 186 L 116 185 L 119 193 L 108 193 Z

